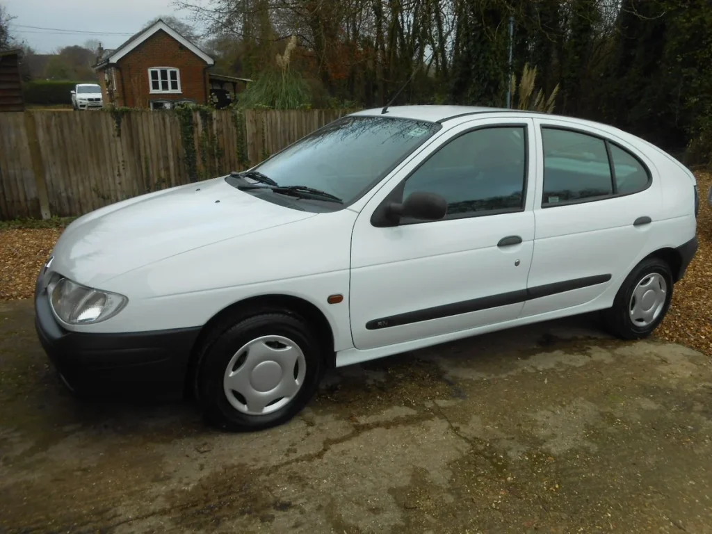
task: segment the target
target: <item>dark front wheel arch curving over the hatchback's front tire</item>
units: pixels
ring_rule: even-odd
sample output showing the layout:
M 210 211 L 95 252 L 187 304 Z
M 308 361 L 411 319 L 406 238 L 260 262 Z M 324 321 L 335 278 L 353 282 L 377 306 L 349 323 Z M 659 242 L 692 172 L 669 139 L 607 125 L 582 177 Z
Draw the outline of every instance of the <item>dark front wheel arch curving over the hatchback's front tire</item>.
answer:
M 327 368 L 336 365 L 336 353 L 334 351 L 334 332 L 326 315 L 317 305 L 310 303 L 304 298 L 294 295 L 273 293 L 266 295 L 256 295 L 239 300 L 236 303 L 223 308 L 213 315 L 201 328 L 200 333 L 191 350 L 186 375 L 187 390 L 192 389 L 192 382 L 199 365 L 199 355 L 206 338 L 215 329 L 229 328 L 236 321 L 247 318 L 258 313 L 280 312 L 291 315 L 298 315 L 314 328 L 315 334 L 323 348 L 325 355 L 324 363 Z

